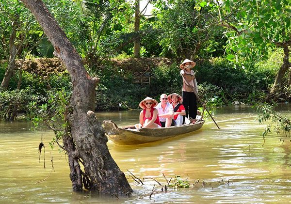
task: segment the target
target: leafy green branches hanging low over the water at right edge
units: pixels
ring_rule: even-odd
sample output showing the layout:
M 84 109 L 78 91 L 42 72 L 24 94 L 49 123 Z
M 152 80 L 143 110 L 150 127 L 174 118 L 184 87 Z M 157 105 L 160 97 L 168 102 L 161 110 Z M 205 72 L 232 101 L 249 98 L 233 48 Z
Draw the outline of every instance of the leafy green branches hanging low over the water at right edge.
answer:
M 275 105 L 264 104 L 258 107 L 259 123 L 269 122 L 263 134 L 263 139 L 271 133 L 273 128 L 277 134 L 285 133 L 285 137 L 291 136 L 291 117 L 281 115 L 274 109 Z

